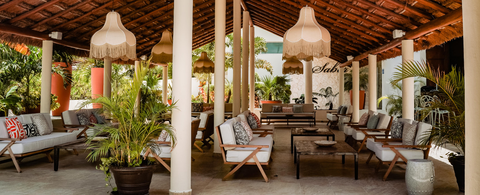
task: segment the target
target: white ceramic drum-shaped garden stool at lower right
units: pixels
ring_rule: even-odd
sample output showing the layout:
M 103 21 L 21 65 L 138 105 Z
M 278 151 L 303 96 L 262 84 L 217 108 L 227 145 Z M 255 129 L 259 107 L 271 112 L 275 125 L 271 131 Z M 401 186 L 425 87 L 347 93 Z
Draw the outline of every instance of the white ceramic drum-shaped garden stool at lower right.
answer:
M 431 195 L 434 181 L 435 171 L 432 160 L 408 160 L 405 172 L 408 195 Z

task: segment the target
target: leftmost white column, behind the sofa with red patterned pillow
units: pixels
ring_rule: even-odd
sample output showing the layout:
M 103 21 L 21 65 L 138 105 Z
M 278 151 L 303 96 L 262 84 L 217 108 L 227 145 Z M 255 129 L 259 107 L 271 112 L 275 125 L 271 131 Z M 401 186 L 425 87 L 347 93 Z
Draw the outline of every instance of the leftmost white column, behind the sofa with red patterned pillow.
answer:
M 40 92 L 40 112 L 50 113 L 52 94 L 52 53 L 53 41 L 42 41 L 42 85 Z

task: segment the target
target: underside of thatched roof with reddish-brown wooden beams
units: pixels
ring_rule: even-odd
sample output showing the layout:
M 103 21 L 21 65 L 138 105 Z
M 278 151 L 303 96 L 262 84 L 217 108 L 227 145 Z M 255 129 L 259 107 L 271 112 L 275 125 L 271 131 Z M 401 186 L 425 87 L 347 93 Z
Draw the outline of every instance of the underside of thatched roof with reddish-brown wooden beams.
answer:
M 196 49 L 214 40 L 215 0 L 193 0 L 193 5 L 192 49 Z M 312 7 L 319 24 L 331 33 L 330 58 L 343 62 L 346 56 L 389 42 L 395 29 L 410 31 L 461 7 L 461 0 L 242 0 L 242 5 L 250 11 L 253 25 L 280 37 L 296 23 L 301 7 Z M 164 30 L 172 31 L 173 6 L 173 0 L 0 0 L 0 23 L 43 33 L 59 31 L 63 40 L 88 46 L 113 9 L 136 36 L 141 56 L 150 53 Z M 233 31 L 232 10 L 233 0 L 227 0 L 227 34 Z M 416 39 L 415 50 L 462 35 L 461 22 L 447 25 Z M 0 39 L 41 46 L 40 39 L 5 32 L 0 32 Z M 378 54 L 378 60 L 400 55 L 399 47 Z

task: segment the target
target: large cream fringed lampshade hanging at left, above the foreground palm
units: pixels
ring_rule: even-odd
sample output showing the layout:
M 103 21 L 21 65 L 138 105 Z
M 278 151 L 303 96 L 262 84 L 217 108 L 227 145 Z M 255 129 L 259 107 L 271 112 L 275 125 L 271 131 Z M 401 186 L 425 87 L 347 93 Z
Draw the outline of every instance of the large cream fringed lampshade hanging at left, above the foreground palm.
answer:
M 90 41 L 90 58 L 112 61 L 136 59 L 136 42 L 133 33 L 121 24 L 120 14 L 108 12 L 102 29 Z

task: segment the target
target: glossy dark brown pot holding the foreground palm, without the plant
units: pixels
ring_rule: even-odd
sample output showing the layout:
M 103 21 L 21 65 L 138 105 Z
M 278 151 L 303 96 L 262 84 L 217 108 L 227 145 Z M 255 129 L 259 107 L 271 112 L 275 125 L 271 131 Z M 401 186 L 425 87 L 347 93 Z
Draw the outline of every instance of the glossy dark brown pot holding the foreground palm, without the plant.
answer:
M 148 195 L 156 166 L 157 164 L 141 167 L 110 166 L 109 169 L 117 184 L 118 195 Z

